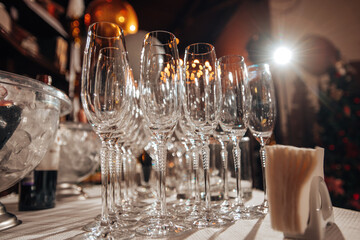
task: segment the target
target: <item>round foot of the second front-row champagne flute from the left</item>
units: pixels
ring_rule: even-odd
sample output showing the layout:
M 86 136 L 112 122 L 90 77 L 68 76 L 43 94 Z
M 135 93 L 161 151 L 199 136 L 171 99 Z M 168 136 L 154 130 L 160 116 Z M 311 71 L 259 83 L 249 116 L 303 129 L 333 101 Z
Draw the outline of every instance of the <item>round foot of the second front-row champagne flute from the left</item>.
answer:
M 136 233 L 152 238 L 176 237 L 191 230 L 190 226 L 175 223 L 168 218 L 158 219 L 157 222 L 147 223 L 136 228 Z

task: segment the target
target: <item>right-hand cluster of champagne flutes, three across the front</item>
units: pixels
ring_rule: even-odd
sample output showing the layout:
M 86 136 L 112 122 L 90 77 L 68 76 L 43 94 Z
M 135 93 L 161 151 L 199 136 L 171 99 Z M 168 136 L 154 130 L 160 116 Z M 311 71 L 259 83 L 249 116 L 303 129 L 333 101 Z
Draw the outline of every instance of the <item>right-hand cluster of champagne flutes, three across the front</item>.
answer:
M 269 65 L 261 64 L 247 68 L 244 58 L 236 55 L 223 56 L 216 60 L 212 45 L 197 43 L 185 49 L 184 72 L 185 122 L 192 126 L 193 129 L 190 131 L 195 132 L 195 138 L 201 142 L 200 154 L 205 182 L 204 209 L 200 213 L 197 212 L 195 218 L 190 218 L 192 224 L 196 227 L 222 226 L 231 220 L 253 219 L 266 214 L 268 211 L 264 176 L 266 154 L 263 147 L 271 137 L 276 117 Z M 265 190 L 264 202 L 253 208 L 245 207 L 240 185 L 241 150 L 238 142 L 248 128 L 262 146 L 260 155 Z M 226 143 L 232 141 L 234 146 L 232 154 L 237 197 L 231 206 L 225 199 L 218 211 L 212 211 L 210 201 L 208 147 L 210 135 L 216 136 L 223 145 L 221 155 L 225 167 L 227 167 Z M 226 187 L 226 174 L 223 176 Z M 227 189 L 224 189 L 225 197 L 226 191 Z M 201 207 L 197 209 L 202 210 Z

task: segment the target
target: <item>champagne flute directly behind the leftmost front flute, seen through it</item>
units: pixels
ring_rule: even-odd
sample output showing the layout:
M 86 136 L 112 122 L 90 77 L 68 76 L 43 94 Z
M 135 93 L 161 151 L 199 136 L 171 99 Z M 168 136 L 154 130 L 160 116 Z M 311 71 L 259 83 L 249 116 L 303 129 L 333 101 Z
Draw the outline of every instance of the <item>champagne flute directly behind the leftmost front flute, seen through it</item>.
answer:
M 108 178 L 109 195 L 108 209 L 111 222 L 111 236 L 117 239 L 128 239 L 135 235 L 134 232 L 121 230 L 136 224 L 136 220 L 124 220 L 118 214 L 116 206 L 116 187 L 118 176 L 116 176 L 116 144 L 123 140 L 126 135 L 131 134 L 133 99 L 131 92 L 131 81 L 127 74 L 127 60 L 123 51 L 119 48 L 106 47 L 100 50 L 97 65 L 95 83 L 95 104 L 102 114 L 103 121 L 107 124 L 108 143 Z M 96 109 L 95 109 L 96 111 Z M 115 117 L 116 116 L 116 117 Z M 113 120 L 114 119 L 114 120 Z M 116 119 L 116 120 L 115 120 Z M 110 122 L 107 122 L 110 120 Z M 124 131 L 126 129 L 126 132 Z M 93 231 L 93 230 L 92 230 Z

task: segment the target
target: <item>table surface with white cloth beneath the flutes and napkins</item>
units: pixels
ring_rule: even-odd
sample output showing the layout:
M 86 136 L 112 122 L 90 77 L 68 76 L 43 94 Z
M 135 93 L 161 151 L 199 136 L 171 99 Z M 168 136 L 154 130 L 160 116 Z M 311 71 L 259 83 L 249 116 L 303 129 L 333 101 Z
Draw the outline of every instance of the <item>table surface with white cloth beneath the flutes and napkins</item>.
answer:
M 0 239 L 71 239 L 82 233 L 82 226 L 100 213 L 101 199 L 99 186 L 86 188 L 89 198 L 76 201 L 58 201 L 56 207 L 40 211 L 19 212 L 17 195 L 0 198 L 8 212 L 15 214 L 22 224 L 0 232 Z M 247 205 L 261 203 L 263 193 L 253 191 L 253 198 Z M 360 239 L 360 212 L 334 208 L 335 224 L 327 228 L 325 239 Z M 283 239 L 281 232 L 274 231 L 270 217 L 263 219 L 239 220 L 223 228 L 193 230 L 178 239 Z M 139 236 L 135 239 L 144 239 Z

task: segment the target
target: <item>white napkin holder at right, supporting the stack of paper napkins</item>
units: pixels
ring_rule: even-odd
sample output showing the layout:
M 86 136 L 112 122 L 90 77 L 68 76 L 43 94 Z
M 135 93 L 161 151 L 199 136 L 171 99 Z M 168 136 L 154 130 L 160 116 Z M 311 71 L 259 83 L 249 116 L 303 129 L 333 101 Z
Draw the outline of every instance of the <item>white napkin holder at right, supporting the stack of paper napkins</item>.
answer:
M 326 226 L 334 222 L 333 207 L 324 179 L 314 176 L 310 186 L 310 208 L 308 225 L 303 234 L 284 233 L 287 239 L 321 240 Z

